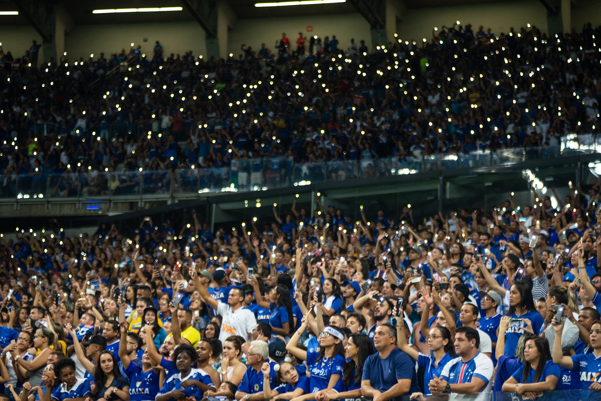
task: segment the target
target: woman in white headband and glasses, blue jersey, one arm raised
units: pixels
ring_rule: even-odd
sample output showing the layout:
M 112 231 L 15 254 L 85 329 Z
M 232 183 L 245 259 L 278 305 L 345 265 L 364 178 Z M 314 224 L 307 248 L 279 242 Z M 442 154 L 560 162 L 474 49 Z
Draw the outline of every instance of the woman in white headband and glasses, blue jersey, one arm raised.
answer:
M 329 390 L 338 392 L 344 391 L 344 385 L 340 381 L 344 364 L 344 333 L 336 326 L 326 326 L 322 334 L 317 338 L 319 341 L 319 354 L 308 353 L 307 350 L 296 346 L 302 332 L 307 328 L 307 320 L 301 327 L 294 332 L 290 338 L 290 342 L 286 346 L 286 350 L 301 360 L 307 361 L 307 366 L 311 372 L 310 389 L 311 393 L 297 397 L 295 401 L 322 399 L 325 393 Z M 157 400 L 162 401 L 162 400 Z

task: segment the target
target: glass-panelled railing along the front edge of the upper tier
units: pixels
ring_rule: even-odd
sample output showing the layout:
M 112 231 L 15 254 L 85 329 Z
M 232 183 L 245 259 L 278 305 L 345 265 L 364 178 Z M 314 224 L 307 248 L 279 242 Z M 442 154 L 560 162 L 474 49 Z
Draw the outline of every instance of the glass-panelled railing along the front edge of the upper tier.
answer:
M 152 171 L 4 173 L 0 199 L 162 198 L 178 194 L 261 191 L 314 183 L 344 182 L 457 168 L 507 166 L 525 161 L 601 153 L 601 136 L 568 135 L 560 146 L 490 152 L 297 163 L 292 158 L 239 159 L 228 167 Z M 601 166 L 600 166 L 601 167 Z

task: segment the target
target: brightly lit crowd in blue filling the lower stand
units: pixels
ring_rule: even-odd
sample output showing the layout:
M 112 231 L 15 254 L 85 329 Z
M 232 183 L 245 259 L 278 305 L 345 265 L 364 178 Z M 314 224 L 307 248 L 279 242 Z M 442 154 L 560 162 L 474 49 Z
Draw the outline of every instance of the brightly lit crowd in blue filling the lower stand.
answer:
M 215 232 L 195 214 L 179 233 L 17 228 L 0 239 L 0 397 L 595 399 L 598 190 L 423 221 L 317 198 Z

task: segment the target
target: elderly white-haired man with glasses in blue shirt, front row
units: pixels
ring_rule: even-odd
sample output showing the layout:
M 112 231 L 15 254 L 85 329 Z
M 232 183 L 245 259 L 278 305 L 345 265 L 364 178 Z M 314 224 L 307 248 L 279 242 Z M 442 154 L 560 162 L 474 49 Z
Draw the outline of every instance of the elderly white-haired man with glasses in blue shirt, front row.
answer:
M 271 366 L 269 370 L 269 384 L 271 388 L 275 388 L 275 369 L 273 367 L 276 366 L 276 363 L 269 360 L 269 346 L 265 341 L 251 341 L 251 346 L 246 354 L 246 373 L 236 391 L 237 400 L 257 401 L 265 399 L 263 395 L 263 372 L 261 372 L 261 367 L 266 362 L 269 362 Z

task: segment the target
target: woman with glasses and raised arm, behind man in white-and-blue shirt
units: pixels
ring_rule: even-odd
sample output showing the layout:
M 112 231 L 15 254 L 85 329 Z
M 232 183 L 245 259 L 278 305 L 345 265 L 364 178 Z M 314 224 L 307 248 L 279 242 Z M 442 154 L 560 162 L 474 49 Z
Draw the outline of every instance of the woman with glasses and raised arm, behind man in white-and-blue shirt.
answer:
M 428 313 L 426 310 L 424 313 Z M 400 324 L 399 324 L 400 323 Z M 424 368 L 424 396 L 431 396 L 428 384 L 436 376 L 441 376 L 442 369 L 448 361 L 455 358 L 455 348 L 451 340 L 451 332 L 443 326 L 435 326 L 430 328 L 430 332 L 426 337 L 426 343 L 430 350 L 430 355 L 425 355 L 407 344 L 407 337 L 403 331 L 403 320 L 397 319 L 397 341 L 398 347 L 413 358 L 418 366 Z

